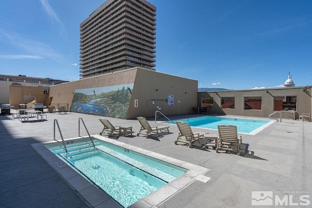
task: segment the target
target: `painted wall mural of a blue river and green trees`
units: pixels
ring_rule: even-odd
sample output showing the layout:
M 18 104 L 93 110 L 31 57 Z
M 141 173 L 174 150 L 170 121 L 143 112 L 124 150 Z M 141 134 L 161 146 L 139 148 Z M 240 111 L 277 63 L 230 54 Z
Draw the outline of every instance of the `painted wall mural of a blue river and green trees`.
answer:
M 134 84 L 77 89 L 71 111 L 126 118 Z

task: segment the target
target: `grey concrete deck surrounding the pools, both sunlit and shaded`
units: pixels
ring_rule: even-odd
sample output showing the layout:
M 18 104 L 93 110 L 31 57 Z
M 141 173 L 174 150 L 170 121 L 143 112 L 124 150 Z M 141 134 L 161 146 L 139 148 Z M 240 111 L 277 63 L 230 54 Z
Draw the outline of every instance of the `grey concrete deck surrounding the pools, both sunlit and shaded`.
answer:
M 103 117 L 80 113 L 46 114 L 48 120 L 30 119 L 30 122 L 20 122 L 11 115 L 0 116 L 0 207 L 111 207 L 109 203 L 86 202 L 31 146 L 53 140 L 54 119 L 58 119 L 62 135 L 67 139 L 78 136 L 79 117 L 83 118 L 90 134 L 101 132 L 103 125 L 98 119 Z M 170 125 L 172 133 L 147 139 L 136 136 L 140 129 L 137 120 L 108 119 L 114 126 L 133 127 L 133 136 L 111 137 L 119 142 L 210 169 L 203 174 L 211 178 L 207 183 L 195 180 L 158 205 L 137 203 L 133 207 L 252 207 L 252 198 L 261 201 L 256 195 L 259 191 L 271 193 L 273 205 L 276 199 L 283 197 L 294 206 L 312 201 L 311 122 L 282 119 L 281 123 L 274 122 L 256 135 L 241 134 L 244 150 L 237 156 L 203 149 L 199 144 L 194 148 L 175 145 L 178 134 L 175 125 Z M 163 126 L 155 123 L 154 118 L 150 118 L 150 122 Z M 208 132 L 217 133 L 215 130 Z M 80 134 L 87 135 L 83 127 Z M 60 140 L 58 131 L 56 138 Z

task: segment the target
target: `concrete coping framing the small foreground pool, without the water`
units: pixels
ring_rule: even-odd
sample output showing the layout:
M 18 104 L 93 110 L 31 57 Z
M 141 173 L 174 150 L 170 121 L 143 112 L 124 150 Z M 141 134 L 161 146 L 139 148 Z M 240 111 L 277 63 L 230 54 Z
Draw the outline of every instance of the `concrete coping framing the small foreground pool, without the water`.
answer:
M 190 184 L 192 184 L 195 180 L 198 180 L 198 176 L 208 178 L 208 182 L 211 178 L 207 176 L 203 176 L 204 173 L 208 172 L 210 169 L 188 163 L 173 157 L 169 157 L 154 151 L 149 151 L 143 148 L 139 148 L 134 145 L 129 145 L 111 138 L 107 138 L 105 136 L 101 136 L 98 134 L 91 135 L 94 138 L 103 140 L 105 142 L 117 145 L 122 148 L 126 148 L 132 151 L 136 151 L 138 153 L 159 159 L 161 161 L 173 164 L 175 166 L 187 169 L 188 171 L 176 178 L 174 181 L 166 184 L 165 186 L 157 189 L 153 193 L 145 196 L 139 201 L 135 202 L 130 207 L 134 206 L 136 208 L 152 208 L 153 206 L 158 206 L 162 204 L 170 197 L 174 196 L 180 190 L 186 188 Z M 68 140 L 75 139 L 85 139 L 86 137 L 74 137 Z M 44 144 L 56 143 L 59 141 L 48 141 L 42 143 L 34 143 L 31 146 L 39 153 L 39 155 L 63 178 L 65 182 L 69 184 L 69 186 L 78 193 L 78 195 L 86 202 L 86 204 L 97 207 L 100 205 L 110 205 L 110 207 L 122 207 L 115 200 L 113 200 L 110 196 L 103 193 L 100 189 L 95 187 L 92 183 L 90 183 L 87 179 L 85 179 L 82 175 L 80 175 L 76 170 L 72 169 L 66 163 L 64 163 L 57 155 L 48 150 Z M 197 178 L 196 178 L 197 177 Z M 201 181 L 201 180 L 200 180 Z M 96 189 L 95 189 L 96 188 Z

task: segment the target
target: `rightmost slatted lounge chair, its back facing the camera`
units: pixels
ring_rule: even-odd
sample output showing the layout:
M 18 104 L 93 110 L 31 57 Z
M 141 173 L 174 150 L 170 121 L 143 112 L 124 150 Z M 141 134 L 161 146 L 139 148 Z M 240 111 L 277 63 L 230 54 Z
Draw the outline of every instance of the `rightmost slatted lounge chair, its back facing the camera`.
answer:
M 219 150 L 236 152 L 240 155 L 240 144 L 242 137 L 238 138 L 237 127 L 232 125 L 218 125 L 219 138 L 217 142 L 216 152 Z

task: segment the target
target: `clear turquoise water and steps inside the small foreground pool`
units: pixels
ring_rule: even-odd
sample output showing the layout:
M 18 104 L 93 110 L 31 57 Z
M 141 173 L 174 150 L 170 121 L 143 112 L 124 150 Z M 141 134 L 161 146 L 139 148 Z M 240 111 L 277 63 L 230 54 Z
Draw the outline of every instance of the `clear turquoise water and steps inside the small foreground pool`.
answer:
M 128 207 L 184 174 L 186 169 L 94 139 L 63 146 L 47 146 L 121 206 Z

